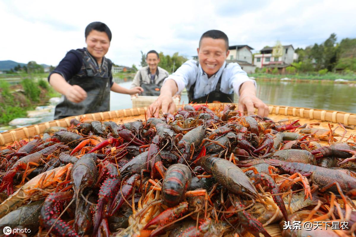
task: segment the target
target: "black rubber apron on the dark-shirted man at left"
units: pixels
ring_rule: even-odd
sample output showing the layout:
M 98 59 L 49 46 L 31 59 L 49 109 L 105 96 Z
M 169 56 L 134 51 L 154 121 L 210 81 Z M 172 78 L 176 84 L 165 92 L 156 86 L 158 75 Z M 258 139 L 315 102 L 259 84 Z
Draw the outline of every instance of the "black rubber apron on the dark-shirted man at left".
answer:
M 79 85 L 87 92 L 87 99 L 79 103 L 69 101 L 65 96 L 64 101 L 56 106 L 54 119 L 68 116 L 91 114 L 110 110 L 110 78 L 94 77 L 93 69 L 85 60 L 87 77 L 72 78 L 68 81 L 70 85 Z

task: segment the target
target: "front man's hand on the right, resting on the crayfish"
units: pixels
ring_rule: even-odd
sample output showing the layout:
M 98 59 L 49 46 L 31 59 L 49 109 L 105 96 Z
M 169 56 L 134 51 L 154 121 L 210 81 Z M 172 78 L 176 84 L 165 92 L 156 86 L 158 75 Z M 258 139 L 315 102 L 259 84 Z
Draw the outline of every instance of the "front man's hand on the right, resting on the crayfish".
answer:
M 247 110 L 247 115 L 252 115 L 255 109 L 258 109 L 258 115 L 261 117 L 267 117 L 269 114 L 268 106 L 258 99 L 255 95 L 249 93 L 241 93 L 239 98 L 239 110 L 240 112 Z

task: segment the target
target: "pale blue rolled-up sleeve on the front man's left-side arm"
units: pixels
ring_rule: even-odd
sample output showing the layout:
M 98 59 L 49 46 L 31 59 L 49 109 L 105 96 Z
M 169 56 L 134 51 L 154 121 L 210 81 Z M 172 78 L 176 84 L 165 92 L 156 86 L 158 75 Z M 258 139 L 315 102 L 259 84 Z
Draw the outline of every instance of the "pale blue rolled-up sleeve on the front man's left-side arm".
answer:
M 163 84 L 166 83 L 168 79 L 174 80 L 178 87 L 176 95 L 180 94 L 188 84 L 191 85 L 192 83 L 194 83 L 193 80 L 195 81 L 197 70 L 198 67 L 196 62 L 194 60 L 188 60 L 187 62 L 183 63 L 182 66 L 180 66 L 176 72 L 169 75 L 163 81 Z

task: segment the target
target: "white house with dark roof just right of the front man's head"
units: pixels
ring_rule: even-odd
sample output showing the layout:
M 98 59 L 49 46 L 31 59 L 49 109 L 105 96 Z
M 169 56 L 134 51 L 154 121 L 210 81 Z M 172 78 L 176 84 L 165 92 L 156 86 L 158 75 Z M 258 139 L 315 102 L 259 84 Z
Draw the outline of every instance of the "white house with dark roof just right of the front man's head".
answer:
M 254 73 L 256 66 L 252 63 L 252 49 L 246 44 L 229 46 L 230 53 L 226 62 L 238 63 L 246 73 Z M 198 60 L 198 56 L 193 56 L 193 59 Z

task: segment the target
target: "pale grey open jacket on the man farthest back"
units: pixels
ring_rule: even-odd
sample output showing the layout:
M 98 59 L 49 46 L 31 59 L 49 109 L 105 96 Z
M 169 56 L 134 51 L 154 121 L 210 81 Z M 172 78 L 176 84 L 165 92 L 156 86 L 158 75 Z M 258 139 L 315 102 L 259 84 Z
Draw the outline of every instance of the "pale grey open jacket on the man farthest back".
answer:
M 168 77 L 169 73 L 161 67 L 157 67 L 156 74 L 155 74 L 155 84 L 162 86 L 163 79 Z M 151 72 L 148 66 L 142 67 L 140 70 L 137 71 L 135 77 L 133 78 L 131 89 L 135 86 L 141 86 L 141 78 L 142 83 L 150 84 L 151 83 Z

